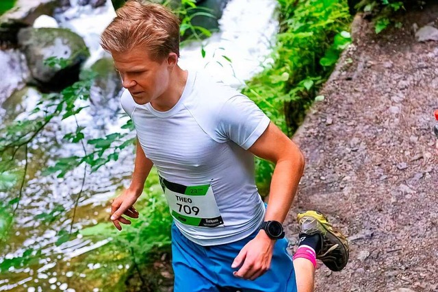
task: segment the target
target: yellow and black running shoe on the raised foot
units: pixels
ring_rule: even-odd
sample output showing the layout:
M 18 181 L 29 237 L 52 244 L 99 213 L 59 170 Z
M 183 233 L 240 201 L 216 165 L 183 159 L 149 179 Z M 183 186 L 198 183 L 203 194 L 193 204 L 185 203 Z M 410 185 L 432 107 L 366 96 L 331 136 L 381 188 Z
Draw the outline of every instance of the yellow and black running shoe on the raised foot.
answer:
M 338 230 L 333 229 L 327 217 L 317 211 L 300 212 L 296 215 L 302 234 L 320 234 L 321 248 L 316 251 L 316 258 L 322 260 L 332 271 L 340 271 L 348 263 L 350 248 L 345 236 Z

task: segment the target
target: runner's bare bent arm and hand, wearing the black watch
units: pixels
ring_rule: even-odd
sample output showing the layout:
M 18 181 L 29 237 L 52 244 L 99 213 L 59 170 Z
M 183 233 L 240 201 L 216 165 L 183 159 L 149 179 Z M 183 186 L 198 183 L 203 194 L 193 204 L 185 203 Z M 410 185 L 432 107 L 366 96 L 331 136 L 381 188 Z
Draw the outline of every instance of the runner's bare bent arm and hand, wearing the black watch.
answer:
M 304 170 L 304 157 L 295 143 L 272 122 L 248 150 L 275 163 L 265 221 L 283 223 Z M 270 267 L 274 244 L 275 241 L 264 230 L 260 230 L 235 258 L 232 267 L 242 266 L 234 275 L 255 280 L 265 273 Z

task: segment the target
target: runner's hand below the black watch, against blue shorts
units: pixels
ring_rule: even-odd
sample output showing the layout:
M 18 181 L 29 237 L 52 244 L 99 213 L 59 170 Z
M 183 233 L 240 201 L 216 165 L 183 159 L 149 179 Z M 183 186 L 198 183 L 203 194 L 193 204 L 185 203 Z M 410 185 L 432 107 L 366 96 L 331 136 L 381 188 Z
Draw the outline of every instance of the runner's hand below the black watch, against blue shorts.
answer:
M 260 230 L 255 239 L 248 242 L 235 257 L 231 267 L 240 269 L 234 271 L 233 275 L 246 280 L 255 280 L 263 275 L 270 268 L 274 245 L 275 241 L 264 230 Z

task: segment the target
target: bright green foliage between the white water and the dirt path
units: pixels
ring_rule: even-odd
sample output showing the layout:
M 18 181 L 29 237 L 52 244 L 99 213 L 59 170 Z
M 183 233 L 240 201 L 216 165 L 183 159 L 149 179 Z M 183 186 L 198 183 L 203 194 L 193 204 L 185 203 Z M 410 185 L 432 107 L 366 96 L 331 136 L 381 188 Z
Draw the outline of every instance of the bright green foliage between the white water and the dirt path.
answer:
M 339 53 L 350 43 L 350 14 L 344 0 L 279 0 L 281 32 L 274 64 L 253 77 L 242 93 L 283 132 L 292 134 L 329 76 Z M 261 193 L 269 189 L 273 167 L 257 161 Z

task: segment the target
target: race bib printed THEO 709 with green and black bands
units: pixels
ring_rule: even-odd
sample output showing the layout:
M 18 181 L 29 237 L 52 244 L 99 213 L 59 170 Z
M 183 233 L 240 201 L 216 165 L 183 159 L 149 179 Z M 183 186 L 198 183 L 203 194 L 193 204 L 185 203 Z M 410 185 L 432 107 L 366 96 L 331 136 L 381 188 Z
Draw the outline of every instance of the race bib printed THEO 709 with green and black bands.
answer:
M 224 223 L 210 184 L 184 186 L 159 178 L 170 214 L 191 226 L 216 227 Z

